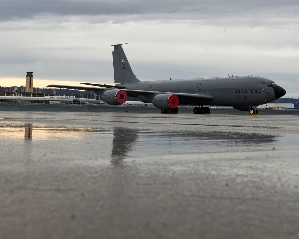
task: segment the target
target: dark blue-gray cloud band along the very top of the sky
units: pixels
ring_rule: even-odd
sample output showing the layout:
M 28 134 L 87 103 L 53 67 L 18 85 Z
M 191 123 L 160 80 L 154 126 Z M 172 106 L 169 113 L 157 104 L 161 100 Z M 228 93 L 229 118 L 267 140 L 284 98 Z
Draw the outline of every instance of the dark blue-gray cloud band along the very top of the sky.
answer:
M 126 16 L 131 19 L 223 19 L 246 16 L 293 18 L 298 1 L 93 1 L 1 0 L 0 19 L 30 19 L 44 14 L 60 16 Z

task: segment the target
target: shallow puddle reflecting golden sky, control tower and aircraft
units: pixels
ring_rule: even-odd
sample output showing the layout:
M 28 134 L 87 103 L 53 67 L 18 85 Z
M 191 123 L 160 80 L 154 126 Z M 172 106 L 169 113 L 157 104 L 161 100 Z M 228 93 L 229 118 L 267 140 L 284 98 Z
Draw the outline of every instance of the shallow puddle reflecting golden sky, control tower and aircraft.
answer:
M 94 155 L 101 155 L 105 159 L 109 157 L 109 152 L 106 149 L 112 147 L 110 154 L 112 163 L 120 163 L 126 158 L 142 160 L 144 155 L 158 157 L 163 154 L 180 154 L 186 151 L 200 154 L 212 151 L 228 152 L 232 149 L 240 151 L 250 147 L 254 147 L 254 150 L 257 151 L 259 147 L 264 146 L 263 144 L 272 143 L 277 138 L 274 135 L 241 132 L 150 131 L 130 128 L 107 130 L 28 123 L 4 123 L 0 126 L 0 129 L 1 136 L 4 139 L 5 137 L 20 138 L 22 137 L 21 132 L 24 130 L 25 140 L 39 142 L 46 140 L 47 143 L 51 140 L 64 140 L 65 144 L 68 140 L 69 142 L 80 143 L 80 147 L 83 148 L 82 153 L 84 153 L 84 150 L 94 151 Z M 102 154 L 98 152 L 99 145 L 103 150 Z M 66 146 L 65 150 L 67 148 Z M 47 150 L 47 147 L 45 147 L 45 150 Z

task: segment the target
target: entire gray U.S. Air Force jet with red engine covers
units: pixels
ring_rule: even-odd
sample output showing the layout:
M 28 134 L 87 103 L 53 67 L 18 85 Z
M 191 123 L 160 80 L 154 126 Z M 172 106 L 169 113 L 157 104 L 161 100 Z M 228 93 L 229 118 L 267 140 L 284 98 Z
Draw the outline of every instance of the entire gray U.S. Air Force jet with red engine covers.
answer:
M 126 43 L 127 44 L 127 43 Z M 272 102 L 286 94 L 274 81 L 260 76 L 227 76 L 198 79 L 169 79 L 140 81 L 122 48 L 112 45 L 114 51 L 114 83 L 102 85 L 81 83 L 90 86 L 48 85 L 48 87 L 94 91 L 110 105 L 121 105 L 128 97 L 152 103 L 161 113 L 177 113 L 178 105 L 194 105 L 194 114 L 210 113 L 212 105 L 233 106 L 240 111 L 257 114 L 257 106 Z

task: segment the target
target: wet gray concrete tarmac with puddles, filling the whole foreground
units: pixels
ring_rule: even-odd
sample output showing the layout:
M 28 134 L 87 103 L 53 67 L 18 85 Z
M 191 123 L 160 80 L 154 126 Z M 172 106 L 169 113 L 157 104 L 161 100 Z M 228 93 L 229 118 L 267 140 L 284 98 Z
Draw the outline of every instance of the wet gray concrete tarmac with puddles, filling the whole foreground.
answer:
M 0 238 L 298 238 L 298 116 L 5 112 Z

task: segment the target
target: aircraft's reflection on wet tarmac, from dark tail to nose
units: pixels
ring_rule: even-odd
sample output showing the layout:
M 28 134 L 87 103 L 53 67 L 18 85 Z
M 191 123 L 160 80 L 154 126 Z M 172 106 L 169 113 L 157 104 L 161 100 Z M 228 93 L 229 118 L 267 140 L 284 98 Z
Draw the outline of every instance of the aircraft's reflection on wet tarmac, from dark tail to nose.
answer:
M 137 129 L 114 128 L 112 163 L 119 163 L 126 157 L 138 155 L 158 156 L 170 153 L 178 154 L 190 150 L 190 153 L 208 153 L 210 150 L 230 151 L 234 147 L 242 150 L 253 147 L 257 150 L 260 144 L 271 143 L 277 137 L 274 135 L 245 134 L 238 132 L 153 132 Z M 134 153 L 130 154 L 131 151 Z M 138 152 L 138 153 L 136 153 Z

